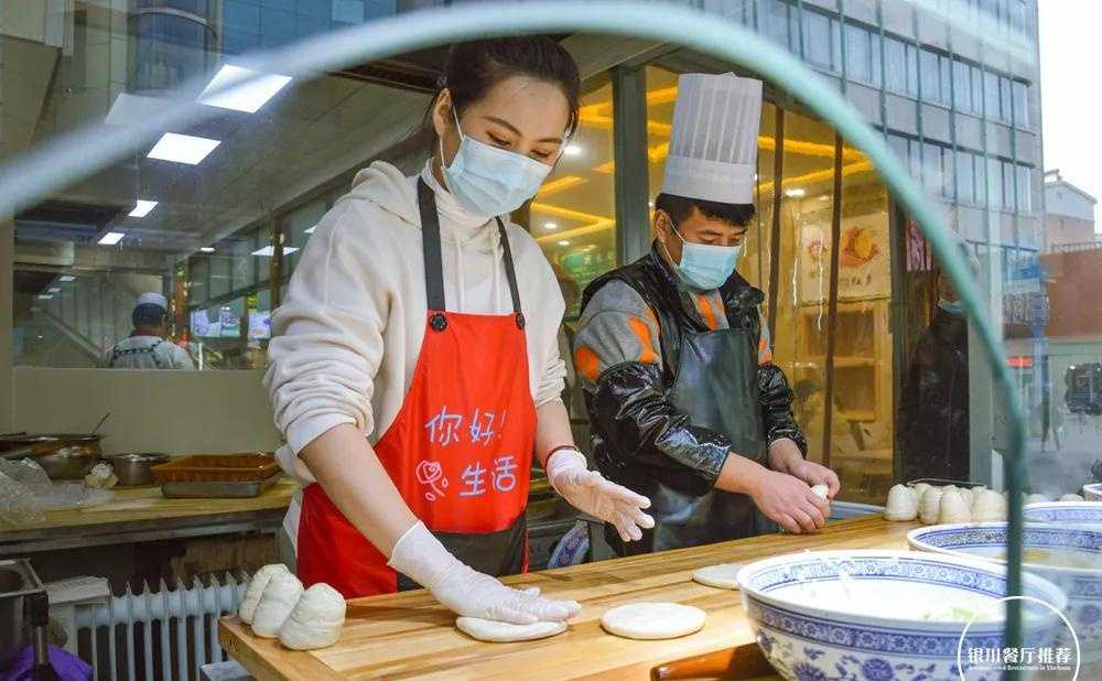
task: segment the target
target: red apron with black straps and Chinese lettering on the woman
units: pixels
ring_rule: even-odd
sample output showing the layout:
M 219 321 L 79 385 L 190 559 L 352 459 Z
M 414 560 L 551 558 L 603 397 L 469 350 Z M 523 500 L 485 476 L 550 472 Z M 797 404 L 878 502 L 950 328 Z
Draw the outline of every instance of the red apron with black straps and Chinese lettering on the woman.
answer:
M 495 576 L 528 569 L 525 506 L 536 408 L 517 277 L 498 219 L 512 314 L 460 314 L 444 305 L 440 221 L 418 182 L 428 315 L 401 411 L 375 453 L 413 515 L 461 561 Z M 353 462 L 349 462 L 353 463 Z M 346 598 L 418 588 L 349 523 L 321 485 L 305 488 L 299 577 Z

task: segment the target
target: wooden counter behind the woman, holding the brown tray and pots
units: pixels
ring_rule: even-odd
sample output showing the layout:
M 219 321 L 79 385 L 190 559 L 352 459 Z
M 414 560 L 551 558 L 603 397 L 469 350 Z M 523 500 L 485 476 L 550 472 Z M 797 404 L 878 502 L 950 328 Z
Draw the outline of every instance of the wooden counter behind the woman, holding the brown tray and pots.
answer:
M 284 478 L 252 499 L 166 499 L 159 486 L 116 488 L 109 504 L 48 511 L 41 522 L 0 521 L 0 555 L 280 526 L 298 483 Z

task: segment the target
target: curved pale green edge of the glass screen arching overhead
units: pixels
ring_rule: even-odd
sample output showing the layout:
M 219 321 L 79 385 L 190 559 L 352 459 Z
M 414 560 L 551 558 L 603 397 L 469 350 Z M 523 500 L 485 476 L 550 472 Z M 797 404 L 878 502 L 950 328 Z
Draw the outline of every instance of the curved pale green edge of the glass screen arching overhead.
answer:
M 864 152 L 898 201 L 918 223 L 955 285 L 987 357 L 1009 412 L 1013 429 L 1004 457 L 1009 487 L 1009 594 L 1022 593 L 1022 495 L 1025 485 L 1025 412 L 1014 388 L 998 334 L 969 275 L 955 239 L 927 205 L 921 190 L 895 158 L 880 133 L 868 126 L 842 96 L 809 67 L 757 33 L 714 14 L 681 7 L 641 2 L 476 3 L 411 12 L 310 39 L 283 50 L 245 60 L 242 66 L 290 76 L 314 75 L 396 54 L 506 34 L 588 32 L 676 42 L 696 52 L 738 64 L 787 90 Z M 228 83 L 231 89 L 251 78 Z M 180 91 L 199 91 L 205 77 Z M 220 90 L 219 90 L 220 91 Z M 218 110 L 193 102 L 166 104 L 155 116 L 126 129 L 93 129 L 60 136 L 0 169 L 0 216 L 48 196 L 111 165 L 148 144 L 162 131 L 212 118 Z M 1007 604 L 1008 645 L 1020 641 L 1019 602 Z

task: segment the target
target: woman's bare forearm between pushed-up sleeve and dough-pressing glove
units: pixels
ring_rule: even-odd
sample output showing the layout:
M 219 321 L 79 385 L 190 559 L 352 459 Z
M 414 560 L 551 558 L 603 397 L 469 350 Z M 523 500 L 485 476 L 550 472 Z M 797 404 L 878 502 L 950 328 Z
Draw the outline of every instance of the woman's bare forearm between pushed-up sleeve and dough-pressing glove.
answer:
M 337 425 L 299 456 L 344 517 L 389 559 L 418 518 L 364 434 L 352 424 Z

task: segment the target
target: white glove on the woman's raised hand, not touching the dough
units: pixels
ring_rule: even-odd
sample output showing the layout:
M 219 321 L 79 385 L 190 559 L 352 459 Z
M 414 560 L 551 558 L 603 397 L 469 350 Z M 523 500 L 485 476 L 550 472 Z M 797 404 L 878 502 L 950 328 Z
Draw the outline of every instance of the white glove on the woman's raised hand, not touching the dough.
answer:
M 577 450 L 559 450 L 544 467 L 555 491 L 574 508 L 616 526 L 624 541 L 642 539 L 640 528 L 655 527 L 655 519 L 642 512 L 650 499 L 590 471 Z

